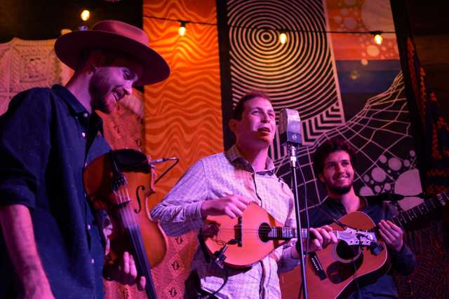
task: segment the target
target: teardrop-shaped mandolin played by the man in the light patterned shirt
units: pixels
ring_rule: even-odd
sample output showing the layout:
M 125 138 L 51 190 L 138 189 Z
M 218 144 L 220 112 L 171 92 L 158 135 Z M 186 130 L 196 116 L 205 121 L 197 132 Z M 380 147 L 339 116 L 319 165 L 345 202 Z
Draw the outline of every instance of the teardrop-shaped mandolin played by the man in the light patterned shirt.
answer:
M 374 232 L 345 228 L 334 233 L 348 246 L 368 246 L 377 242 Z M 308 234 L 307 229 L 302 230 L 302 237 Z M 251 203 L 241 217 L 208 216 L 201 236 L 218 265 L 242 268 L 257 263 L 277 247 L 296 238 L 297 230 L 283 227 L 262 207 Z

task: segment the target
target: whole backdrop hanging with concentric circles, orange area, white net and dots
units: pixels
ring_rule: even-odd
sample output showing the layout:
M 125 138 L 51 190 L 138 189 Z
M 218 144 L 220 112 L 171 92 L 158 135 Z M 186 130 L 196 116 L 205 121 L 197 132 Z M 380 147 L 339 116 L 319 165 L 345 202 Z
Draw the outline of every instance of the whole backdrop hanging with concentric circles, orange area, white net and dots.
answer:
M 223 106 L 232 107 L 248 90 L 262 89 L 277 112 L 283 107 L 300 112 L 304 139 L 300 170 L 311 204 L 326 198 L 313 174 L 311 156 L 323 140 L 335 136 L 358 149 L 357 193 L 421 192 L 396 39 L 384 34 L 379 46 L 370 34 L 345 33 L 394 30 L 388 1 L 377 1 L 375 6 L 372 1 L 321 0 L 226 4 L 221 13 L 227 23 L 220 30 L 229 34 L 222 42 L 229 41 L 231 85 Z M 279 28 L 290 30 L 284 45 L 277 39 Z M 278 174 L 290 181 L 289 162 L 279 139 L 271 155 Z M 410 190 L 410 185 L 415 189 Z

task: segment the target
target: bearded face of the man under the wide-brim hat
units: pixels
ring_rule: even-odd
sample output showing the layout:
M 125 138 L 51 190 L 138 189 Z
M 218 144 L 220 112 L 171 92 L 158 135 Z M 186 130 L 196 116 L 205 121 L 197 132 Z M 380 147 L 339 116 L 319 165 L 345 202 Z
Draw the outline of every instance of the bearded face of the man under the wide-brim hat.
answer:
M 106 61 L 95 69 L 89 92 L 93 109 L 112 113 L 116 102 L 133 92 L 133 84 L 142 76 L 141 65 L 130 57 L 108 54 Z

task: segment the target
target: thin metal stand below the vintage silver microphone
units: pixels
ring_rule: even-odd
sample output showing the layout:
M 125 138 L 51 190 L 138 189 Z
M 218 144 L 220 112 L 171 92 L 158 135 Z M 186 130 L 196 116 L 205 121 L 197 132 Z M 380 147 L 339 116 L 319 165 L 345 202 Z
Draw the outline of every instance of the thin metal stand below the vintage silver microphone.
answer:
M 295 215 L 296 215 L 296 228 L 297 228 L 297 242 L 296 242 L 296 250 L 300 256 L 301 260 L 301 278 L 302 278 L 302 293 L 304 299 L 309 298 L 309 293 L 307 291 L 307 280 L 306 280 L 306 265 L 305 265 L 305 258 L 304 258 L 304 246 L 302 244 L 302 225 L 300 221 L 300 196 L 297 192 L 297 178 L 296 178 L 296 169 L 297 167 L 297 158 L 296 158 L 296 151 L 297 148 L 295 147 L 294 143 L 288 143 L 288 154 L 290 155 L 290 168 L 291 172 L 293 174 L 293 195 L 295 195 Z

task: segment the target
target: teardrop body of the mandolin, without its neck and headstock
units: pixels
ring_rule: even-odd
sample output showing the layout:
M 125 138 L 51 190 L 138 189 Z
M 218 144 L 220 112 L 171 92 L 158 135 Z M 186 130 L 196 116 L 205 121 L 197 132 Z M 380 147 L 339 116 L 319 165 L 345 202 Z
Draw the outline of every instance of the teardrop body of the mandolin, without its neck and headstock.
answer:
M 239 218 L 208 216 L 207 225 L 210 225 L 210 228 L 208 230 L 203 229 L 203 237 L 208 251 L 212 255 L 215 251 L 220 251 L 225 242 L 234 239 L 236 232 L 239 233 L 236 231 L 239 230 Z M 275 227 L 282 224 L 255 203 L 249 204 L 243 212 L 240 225 L 242 232 L 241 246 L 232 244 L 225 251 L 224 264 L 228 267 L 249 267 L 286 242 L 279 239 L 264 241 L 260 238 L 258 232 L 260 228 L 263 229 L 263 225 Z

